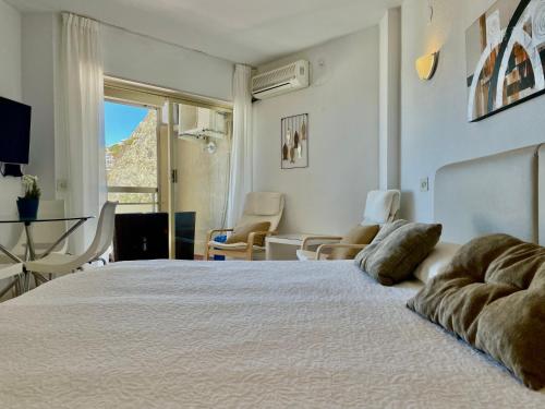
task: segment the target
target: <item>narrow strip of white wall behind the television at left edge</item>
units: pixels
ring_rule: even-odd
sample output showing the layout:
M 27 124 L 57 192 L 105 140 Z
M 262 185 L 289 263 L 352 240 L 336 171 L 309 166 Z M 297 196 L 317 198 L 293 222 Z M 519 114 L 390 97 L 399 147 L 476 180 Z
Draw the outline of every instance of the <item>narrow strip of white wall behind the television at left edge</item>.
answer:
M 0 96 L 22 100 L 21 15 L 0 0 Z M 20 180 L 0 177 L 0 215 L 16 215 Z M 0 243 L 11 244 L 14 227 L 0 226 Z

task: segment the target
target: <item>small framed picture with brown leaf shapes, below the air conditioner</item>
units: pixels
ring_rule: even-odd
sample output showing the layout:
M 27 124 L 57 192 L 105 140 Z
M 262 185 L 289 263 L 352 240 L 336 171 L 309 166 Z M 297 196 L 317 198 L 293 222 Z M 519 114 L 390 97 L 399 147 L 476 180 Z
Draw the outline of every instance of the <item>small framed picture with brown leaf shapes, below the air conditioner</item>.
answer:
M 308 113 L 282 118 L 280 156 L 282 169 L 308 167 Z

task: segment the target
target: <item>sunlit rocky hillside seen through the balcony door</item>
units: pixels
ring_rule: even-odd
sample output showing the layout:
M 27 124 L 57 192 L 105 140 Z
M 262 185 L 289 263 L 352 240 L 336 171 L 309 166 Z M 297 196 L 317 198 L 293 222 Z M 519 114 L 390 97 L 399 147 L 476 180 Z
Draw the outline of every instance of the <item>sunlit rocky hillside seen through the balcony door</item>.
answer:
M 157 188 L 157 112 L 150 110 L 132 135 L 106 149 L 109 187 Z M 143 194 L 123 194 L 122 202 L 147 202 Z M 110 197 L 116 199 L 116 197 Z

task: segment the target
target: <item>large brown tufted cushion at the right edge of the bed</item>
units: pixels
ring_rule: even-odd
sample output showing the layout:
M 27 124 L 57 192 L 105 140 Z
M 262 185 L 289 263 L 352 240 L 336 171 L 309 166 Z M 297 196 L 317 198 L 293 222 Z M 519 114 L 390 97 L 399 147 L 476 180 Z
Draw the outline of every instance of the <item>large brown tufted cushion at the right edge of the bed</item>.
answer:
M 545 249 L 506 234 L 462 246 L 408 306 L 545 387 Z

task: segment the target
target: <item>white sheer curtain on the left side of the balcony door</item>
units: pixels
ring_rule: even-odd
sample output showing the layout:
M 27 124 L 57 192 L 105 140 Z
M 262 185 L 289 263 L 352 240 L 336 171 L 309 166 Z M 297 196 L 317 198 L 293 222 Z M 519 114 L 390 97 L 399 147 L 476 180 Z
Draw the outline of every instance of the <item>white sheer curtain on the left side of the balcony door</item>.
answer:
M 68 181 L 66 210 L 71 215 L 99 215 L 106 201 L 104 135 L 104 63 L 99 23 L 62 14 L 59 67 L 60 175 Z M 94 222 L 71 237 L 71 251 L 83 252 L 93 240 Z

